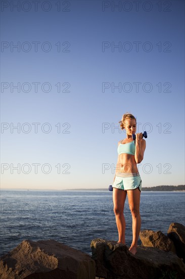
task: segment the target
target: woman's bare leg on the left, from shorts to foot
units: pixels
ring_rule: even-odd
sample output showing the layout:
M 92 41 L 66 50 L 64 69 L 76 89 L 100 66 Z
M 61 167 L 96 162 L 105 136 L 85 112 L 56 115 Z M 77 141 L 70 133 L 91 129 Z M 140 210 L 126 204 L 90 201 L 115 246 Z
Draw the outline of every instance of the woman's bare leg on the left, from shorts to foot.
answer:
M 114 214 L 116 217 L 116 225 L 118 228 L 118 242 L 125 244 L 125 218 L 123 215 L 124 203 L 126 199 L 126 191 L 113 188 Z

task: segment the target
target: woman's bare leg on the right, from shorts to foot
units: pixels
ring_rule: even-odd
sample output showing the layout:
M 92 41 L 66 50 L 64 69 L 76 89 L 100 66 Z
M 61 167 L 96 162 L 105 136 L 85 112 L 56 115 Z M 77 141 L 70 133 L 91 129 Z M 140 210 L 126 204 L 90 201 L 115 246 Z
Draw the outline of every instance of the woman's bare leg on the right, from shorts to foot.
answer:
M 140 235 L 141 229 L 141 216 L 140 216 L 140 190 L 127 190 L 128 204 L 132 214 L 132 243 L 129 251 L 132 254 L 136 253 L 137 240 Z

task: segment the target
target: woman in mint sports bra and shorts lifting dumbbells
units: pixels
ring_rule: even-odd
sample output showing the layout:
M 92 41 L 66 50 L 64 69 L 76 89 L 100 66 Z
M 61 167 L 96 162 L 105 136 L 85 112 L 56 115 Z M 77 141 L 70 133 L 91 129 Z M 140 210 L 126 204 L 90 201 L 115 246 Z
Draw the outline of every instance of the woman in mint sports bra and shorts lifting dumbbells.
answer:
M 144 158 L 146 141 L 142 133 L 136 133 L 136 118 L 132 114 L 124 114 L 119 121 L 121 129 L 125 129 L 126 138 L 118 143 L 118 161 L 114 177 L 113 203 L 116 225 L 118 228 L 118 243 L 125 244 L 125 218 L 123 215 L 126 194 L 132 215 L 132 243 L 130 253 L 135 255 L 137 240 L 141 229 L 140 194 L 142 180 L 137 169 L 137 164 Z M 132 139 L 135 134 L 135 141 Z

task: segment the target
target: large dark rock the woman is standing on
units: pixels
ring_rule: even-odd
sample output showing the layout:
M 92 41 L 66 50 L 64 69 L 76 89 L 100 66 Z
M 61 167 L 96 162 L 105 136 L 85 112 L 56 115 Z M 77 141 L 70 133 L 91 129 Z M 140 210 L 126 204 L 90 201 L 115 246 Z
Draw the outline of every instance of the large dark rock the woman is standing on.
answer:
M 91 241 L 92 259 L 96 262 L 96 276 L 105 279 L 156 279 L 176 275 L 185 276 L 185 264 L 173 252 L 154 247 L 137 247 L 135 255 L 126 245 L 97 238 Z M 172 278 L 172 277 L 171 277 Z

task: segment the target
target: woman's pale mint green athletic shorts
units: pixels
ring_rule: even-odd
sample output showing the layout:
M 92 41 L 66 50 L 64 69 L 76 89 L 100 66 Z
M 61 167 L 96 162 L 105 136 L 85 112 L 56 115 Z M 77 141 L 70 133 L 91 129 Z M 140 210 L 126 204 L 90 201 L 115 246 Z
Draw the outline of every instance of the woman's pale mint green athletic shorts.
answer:
M 131 175 L 127 175 L 125 173 L 117 173 L 112 187 L 125 191 L 138 188 L 141 192 L 142 179 L 140 177 L 140 173 L 132 173 Z

